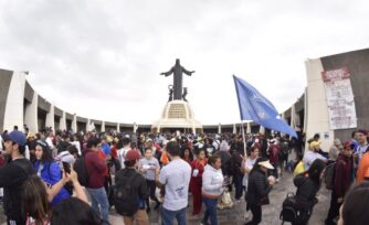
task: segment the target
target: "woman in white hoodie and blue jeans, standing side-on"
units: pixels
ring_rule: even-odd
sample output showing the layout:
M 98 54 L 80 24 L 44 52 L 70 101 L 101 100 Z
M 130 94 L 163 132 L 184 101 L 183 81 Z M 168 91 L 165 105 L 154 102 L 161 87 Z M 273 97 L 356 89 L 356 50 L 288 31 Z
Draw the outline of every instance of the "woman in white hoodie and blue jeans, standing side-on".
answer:
M 208 164 L 202 174 L 202 201 L 207 207 L 202 218 L 202 224 L 208 224 L 210 217 L 211 225 L 218 225 L 217 203 L 223 193 L 224 178 L 221 169 L 222 162 L 219 156 L 209 157 Z

